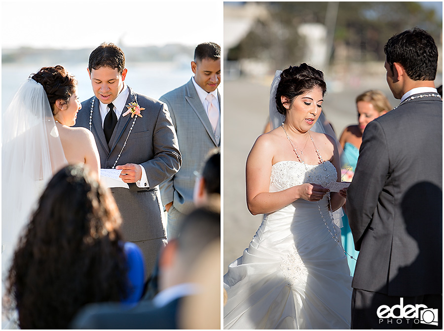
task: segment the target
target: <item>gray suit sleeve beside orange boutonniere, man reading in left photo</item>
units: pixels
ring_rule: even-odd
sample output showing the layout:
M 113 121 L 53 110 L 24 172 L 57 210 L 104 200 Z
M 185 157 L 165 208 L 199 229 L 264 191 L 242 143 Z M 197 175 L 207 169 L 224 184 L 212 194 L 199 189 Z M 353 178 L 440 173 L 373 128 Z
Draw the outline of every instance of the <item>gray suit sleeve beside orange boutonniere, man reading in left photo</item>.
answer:
M 176 174 L 182 165 L 176 131 L 165 104 L 158 112 L 152 139 L 154 157 L 142 163 L 150 187 L 157 186 Z

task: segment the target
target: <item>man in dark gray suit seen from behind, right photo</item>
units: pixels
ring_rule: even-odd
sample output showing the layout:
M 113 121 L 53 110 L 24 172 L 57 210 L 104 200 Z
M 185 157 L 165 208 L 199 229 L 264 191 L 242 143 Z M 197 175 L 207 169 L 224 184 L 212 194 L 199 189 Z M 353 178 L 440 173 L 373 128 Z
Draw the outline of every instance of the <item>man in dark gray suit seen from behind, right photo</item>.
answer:
M 401 99 L 367 125 L 347 215 L 360 251 L 352 329 L 442 329 L 443 102 L 438 48 L 424 30 L 384 46 L 387 83 Z

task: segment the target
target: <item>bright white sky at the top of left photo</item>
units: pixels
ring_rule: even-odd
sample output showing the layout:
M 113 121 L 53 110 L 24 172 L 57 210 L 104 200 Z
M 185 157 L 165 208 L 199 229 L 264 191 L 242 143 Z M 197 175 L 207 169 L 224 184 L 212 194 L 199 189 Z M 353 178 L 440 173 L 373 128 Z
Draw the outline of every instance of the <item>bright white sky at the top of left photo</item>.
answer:
M 1 0 L 1 47 L 222 43 L 223 2 Z

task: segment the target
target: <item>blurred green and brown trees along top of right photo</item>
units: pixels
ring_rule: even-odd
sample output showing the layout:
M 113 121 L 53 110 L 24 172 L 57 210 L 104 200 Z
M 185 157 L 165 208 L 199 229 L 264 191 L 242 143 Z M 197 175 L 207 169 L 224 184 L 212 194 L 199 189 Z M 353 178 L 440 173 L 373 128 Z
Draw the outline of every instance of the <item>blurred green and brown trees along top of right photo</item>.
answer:
M 321 23 L 332 34 L 329 63 L 384 61 L 384 44 L 395 33 L 415 26 L 441 43 L 443 23 L 434 9 L 420 2 L 260 2 L 268 15 L 256 20 L 240 43 L 229 49 L 227 60 L 273 59 L 276 67 L 301 61 L 305 39 L 297 27 Z M 333 24 L 332 24 L 333 22 Z M 330 25 L 330 26 L 329 26 Z M 333 33 L 334 32 L 334 33 Z M 346 48 L 346 58 L 336 50 Z M 340 59 L 339 59 L 340 57 Z

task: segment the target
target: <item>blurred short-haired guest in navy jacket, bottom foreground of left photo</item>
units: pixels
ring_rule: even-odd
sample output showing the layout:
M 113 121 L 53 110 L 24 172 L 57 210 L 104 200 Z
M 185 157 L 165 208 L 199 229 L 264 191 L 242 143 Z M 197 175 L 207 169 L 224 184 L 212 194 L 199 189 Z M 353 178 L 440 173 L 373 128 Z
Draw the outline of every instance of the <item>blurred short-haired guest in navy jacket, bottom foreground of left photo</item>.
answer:
M 74 329 L 220 329 L 221 214 L 198 208 L 159 257 L 159 293 L 131 309 L 86 306 Z

